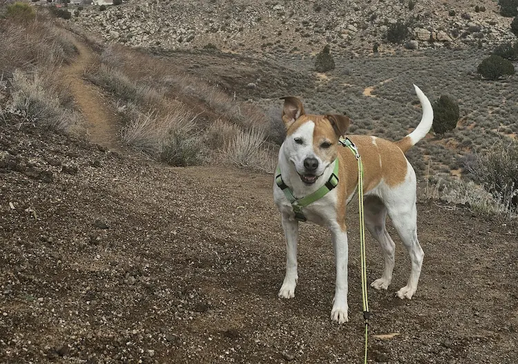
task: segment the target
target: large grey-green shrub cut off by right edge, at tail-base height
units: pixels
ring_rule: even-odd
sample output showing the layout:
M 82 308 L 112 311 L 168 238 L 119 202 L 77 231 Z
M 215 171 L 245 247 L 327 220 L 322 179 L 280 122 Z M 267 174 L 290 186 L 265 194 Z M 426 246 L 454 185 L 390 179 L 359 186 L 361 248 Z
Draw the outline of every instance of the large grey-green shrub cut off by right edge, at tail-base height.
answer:
M 466 169 L 507 207 L 518 207 L 518 142 L 494 146 Z

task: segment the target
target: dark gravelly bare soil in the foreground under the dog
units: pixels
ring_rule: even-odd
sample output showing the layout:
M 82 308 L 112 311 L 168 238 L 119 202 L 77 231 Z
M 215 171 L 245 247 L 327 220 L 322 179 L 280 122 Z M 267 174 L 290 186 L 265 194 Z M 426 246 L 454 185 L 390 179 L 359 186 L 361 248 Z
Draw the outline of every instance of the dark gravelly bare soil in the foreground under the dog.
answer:
M 350 320 L 337 325 L 323 228 L 302 224 L 296 297 L 277 297 L 271 175 L 172 168 L 33 126 L 0 124 L 0 153 L 1 363 L 361 361 L 354 206 Z M 418 211 L 419 288 L 395 297 L 410 262 L 391 228 L 394 280 L 369 289 L 370 334 L 399 335 L 371 336 L 369 362 L 516 363 L 518 222 L 436 202 Z M 379 278 L 370 237 L 367 266 Z

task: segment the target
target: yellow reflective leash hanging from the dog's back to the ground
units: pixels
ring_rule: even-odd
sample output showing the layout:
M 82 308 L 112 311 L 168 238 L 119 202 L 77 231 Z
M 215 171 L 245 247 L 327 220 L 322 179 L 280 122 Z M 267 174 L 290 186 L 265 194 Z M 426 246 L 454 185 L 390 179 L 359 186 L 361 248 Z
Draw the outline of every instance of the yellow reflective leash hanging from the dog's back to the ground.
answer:
M 348 138 L 340 139 L 340 143 L 347 146 L 358 161 L 358 211 L 360 214 L 360 260 L 361 260 L 361 296 L 363 303 L 363 320 L 365 320 L 365 355 L 363 362 L 367 364 L 367 338 L 369 336 L 369 300 L 367 298 L 367 263 L 365 262 L 365 217 L 363 213 L 363 163 L 358 149 Z

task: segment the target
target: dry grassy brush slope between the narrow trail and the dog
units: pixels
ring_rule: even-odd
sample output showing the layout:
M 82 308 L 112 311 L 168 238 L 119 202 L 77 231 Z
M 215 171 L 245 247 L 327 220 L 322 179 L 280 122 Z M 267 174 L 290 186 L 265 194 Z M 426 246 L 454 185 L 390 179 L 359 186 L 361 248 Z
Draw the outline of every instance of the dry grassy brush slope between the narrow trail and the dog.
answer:
M 218 86 L 122 46 L 108 46 L 88 79 L 110 93 L 122 140 L 174 166 L 220 163 L 273 172 L 267 117 Z

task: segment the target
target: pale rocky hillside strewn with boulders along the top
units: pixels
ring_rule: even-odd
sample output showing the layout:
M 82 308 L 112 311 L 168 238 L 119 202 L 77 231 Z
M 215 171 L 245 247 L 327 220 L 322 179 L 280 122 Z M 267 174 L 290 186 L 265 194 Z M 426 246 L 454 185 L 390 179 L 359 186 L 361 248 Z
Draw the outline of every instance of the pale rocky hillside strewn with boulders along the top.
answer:
M 395 48 L 387 30 L 398 21 L 409 32 L 407 48 L 492 46 L 516 39 L 512 19 L 491 0 L 168 0 L 131 1 L 105 11 L 87 7 L 73 19 L 107 41 L 167 49 L 314 51 L 323 44 L 340 50 Z

